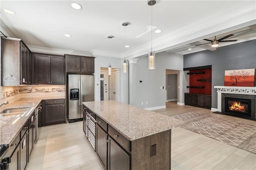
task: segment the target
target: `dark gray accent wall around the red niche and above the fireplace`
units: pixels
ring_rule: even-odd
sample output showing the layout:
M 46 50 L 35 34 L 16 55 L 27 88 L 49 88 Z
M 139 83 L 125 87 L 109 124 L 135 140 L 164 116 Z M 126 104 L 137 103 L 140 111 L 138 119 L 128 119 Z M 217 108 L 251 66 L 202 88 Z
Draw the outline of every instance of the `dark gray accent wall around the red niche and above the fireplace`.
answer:
M 224 85 L 225 70 L 256 68 L 256 40 L 184 55 L 184 68 L 212 65 L 212 108 L 217 108 L 217 90 Z

